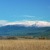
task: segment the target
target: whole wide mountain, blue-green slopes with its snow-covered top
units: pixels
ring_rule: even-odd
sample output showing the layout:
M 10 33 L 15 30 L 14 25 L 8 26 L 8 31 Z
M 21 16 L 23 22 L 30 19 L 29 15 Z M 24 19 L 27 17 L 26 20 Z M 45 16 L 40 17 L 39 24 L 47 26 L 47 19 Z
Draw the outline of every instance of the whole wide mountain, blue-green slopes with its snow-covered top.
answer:
M 0 36 L 34 36 L 50 38 L 49 24 L 43 22 L 36 22 L 35 24 L 6 24 L 0 27 Z

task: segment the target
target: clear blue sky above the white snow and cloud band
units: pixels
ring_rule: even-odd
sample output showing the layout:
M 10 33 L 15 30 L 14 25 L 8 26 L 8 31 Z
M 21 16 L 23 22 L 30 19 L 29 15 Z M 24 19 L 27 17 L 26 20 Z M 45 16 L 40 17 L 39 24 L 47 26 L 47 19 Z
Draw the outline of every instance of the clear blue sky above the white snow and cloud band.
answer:
M 50 22 L 50 0 L 0 0 L 0 20 Z

